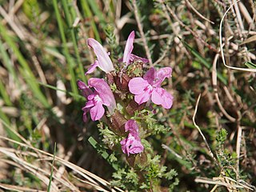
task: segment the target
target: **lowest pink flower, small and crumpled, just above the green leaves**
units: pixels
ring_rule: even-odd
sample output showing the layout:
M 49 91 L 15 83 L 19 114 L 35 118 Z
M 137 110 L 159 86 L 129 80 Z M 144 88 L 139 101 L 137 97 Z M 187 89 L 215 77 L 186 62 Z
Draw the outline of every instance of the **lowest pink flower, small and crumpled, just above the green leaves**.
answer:
M 127 154 L 139 154 L 144 150 L 141 139 L 138 135 L 138 124 L 134 120 L 126 122 L 125 130 L 129 131 L 127 138 L 122 139 L 120 144 L 122 145 L 122 152 Z

